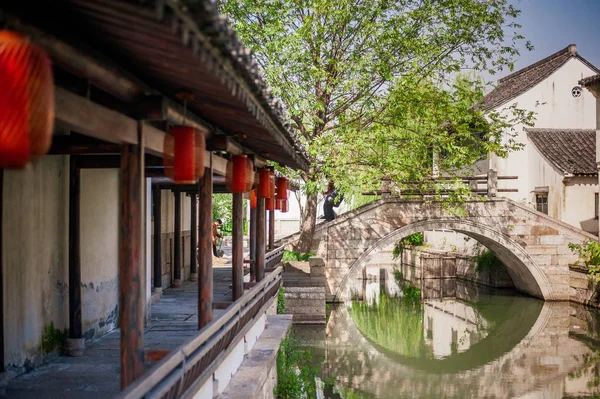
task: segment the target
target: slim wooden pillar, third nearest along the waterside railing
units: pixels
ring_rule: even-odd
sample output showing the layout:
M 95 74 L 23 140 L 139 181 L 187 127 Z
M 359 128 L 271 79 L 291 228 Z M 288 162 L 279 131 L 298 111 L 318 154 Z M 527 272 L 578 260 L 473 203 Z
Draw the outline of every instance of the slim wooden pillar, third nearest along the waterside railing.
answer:
M 232 206 L 232 296 L 237 300 L 244 294 L 244 199 L 234 193 Z

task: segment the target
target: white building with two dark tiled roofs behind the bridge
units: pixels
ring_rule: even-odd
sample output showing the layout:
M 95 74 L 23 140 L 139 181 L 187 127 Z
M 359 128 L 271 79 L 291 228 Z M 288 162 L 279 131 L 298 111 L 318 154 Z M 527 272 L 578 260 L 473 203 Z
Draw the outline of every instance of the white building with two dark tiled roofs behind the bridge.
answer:
M 595 159 L 596 101 L 578 82 L 600 71 L 572 44 L 498 81 L 484 101 L 488 110 L 536 112 L 534 128 L 516 126 L 522 151 L 492 157 L 484 169 L 498 176 L 500 192 L 556 219 L 598 233 L 598 174 Z

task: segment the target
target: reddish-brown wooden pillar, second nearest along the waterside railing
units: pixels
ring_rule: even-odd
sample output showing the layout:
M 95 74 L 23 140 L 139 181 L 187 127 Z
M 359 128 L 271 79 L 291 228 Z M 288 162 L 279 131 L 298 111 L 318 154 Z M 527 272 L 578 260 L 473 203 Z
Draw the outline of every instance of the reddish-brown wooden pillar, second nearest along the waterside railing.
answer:
M 201 329 L 213 317 L 212 167 L 204 171 L 198 192 L 198 329 Z

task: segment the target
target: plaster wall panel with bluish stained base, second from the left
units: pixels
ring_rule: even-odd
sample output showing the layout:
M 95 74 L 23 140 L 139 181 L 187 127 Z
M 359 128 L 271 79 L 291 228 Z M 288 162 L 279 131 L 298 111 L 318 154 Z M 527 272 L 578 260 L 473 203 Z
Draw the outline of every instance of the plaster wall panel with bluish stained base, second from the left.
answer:
M 84 337 L 114 329 L 119 305 L 119 170 L 81 170 L 81 297 Z

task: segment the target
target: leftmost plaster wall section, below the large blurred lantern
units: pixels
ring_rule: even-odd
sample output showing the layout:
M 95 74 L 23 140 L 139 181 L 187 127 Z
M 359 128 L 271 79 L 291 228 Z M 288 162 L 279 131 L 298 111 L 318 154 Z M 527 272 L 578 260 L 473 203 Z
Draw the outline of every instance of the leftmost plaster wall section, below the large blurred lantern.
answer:
M 68 327 L 67 157 L 4 171 L 3 191 L 4 363 L 30 368 L 44 328 Z

